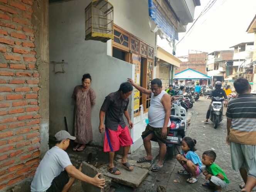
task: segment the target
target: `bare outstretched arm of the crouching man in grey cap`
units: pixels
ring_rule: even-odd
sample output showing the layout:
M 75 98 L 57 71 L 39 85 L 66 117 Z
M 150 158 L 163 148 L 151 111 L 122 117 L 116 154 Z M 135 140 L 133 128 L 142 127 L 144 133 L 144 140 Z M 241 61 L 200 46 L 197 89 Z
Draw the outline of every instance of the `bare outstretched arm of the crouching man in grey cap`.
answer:
M 99 179 L 99 175 L 101 173 L 98 173 L 97 175 L 95 175 L 92 178 L 92 177 L 89 177 L 89 176 L 85 175 L 81 171 L 79 171 L 73 165 L 68 165 L 67 167 L 65 167 L 65 170 L 67 171 L 67 173 L 71 177 L 74 177 L 74 178 L 79 179 L 81 181 L 88 182 L 89 184 L 93 184 L 93 185 L 95 185 L 95 186 L 97 186 L 97 187 L 99 187 L 101 189 L 103 189 L 103 186 L 105 185 L 105 179 Z

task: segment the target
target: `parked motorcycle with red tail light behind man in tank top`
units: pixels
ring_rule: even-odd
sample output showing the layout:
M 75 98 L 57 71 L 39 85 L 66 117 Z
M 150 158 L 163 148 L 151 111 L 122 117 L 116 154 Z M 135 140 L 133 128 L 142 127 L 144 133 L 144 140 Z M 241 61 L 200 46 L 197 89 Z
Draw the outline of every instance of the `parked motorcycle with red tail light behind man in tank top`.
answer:
M 173 157 L 175 155 L 175 147 L 176 145 L 181 145 L 187 127 L 186 109 L 181 106 L 179 101 L 173 101 L 170 121 L 171 125 L 167 134 L 166 147 L 168 156 Z

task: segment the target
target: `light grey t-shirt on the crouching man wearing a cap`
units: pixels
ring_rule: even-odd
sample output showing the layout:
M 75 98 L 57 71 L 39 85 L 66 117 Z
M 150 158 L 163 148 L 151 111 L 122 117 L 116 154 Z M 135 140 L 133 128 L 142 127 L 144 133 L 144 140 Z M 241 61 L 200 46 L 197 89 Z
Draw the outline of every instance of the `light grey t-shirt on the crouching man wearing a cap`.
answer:
M 57 146 L 52 147 L 37 167 L 31 184 L 31 192 L 46 191 L 51 187 L 52 180 L 68 165 L 72 163 L 67 153 Z

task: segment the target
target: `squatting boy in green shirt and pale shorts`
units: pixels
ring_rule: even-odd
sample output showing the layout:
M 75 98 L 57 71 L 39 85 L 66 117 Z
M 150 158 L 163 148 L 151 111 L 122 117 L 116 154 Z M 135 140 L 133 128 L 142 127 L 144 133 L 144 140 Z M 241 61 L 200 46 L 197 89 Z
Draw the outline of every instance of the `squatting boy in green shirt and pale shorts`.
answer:
M 203 153 L 202 163 L 205 166 L 201 167 L 201 171 L 205 175 L 203 186 L 214 186 L 216 187 L 215 192 L 220 192 L 221 189 L 227 187 L 229 180 L 226 177 L 224 171 L 214 163 L 216 159 L 216 153 L 212 150 L 205 151 Z

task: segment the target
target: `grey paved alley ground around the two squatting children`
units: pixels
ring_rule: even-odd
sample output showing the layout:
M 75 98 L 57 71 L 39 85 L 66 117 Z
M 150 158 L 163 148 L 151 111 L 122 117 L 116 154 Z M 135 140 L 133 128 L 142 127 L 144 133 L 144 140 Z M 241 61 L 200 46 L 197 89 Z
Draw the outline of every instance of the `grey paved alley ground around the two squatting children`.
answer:
M 194 107 L 189 109 L 189 113 L 191 113 L 192 116 L 190 126 L 186 131 L 186 136 L 197 140 L 196 153 L 199 155 L 200 159 L 202 159 L 202 153 L 206 150 L 214 150 L 214 152 L 216 152 L 217 158 L 215 163 L 224 170 L 230 181 L 227 188 L 223 191 L 240 192 L 239 184 L 243 182 L 243 180 L 238 172 L 232 170 L 230 148 L 226 144 L 226 116 L 223 116 L 223 120 L 217 129 L 213 128 L 211 121 L 207 124 L 202 123 L 202 121 L 205 120 L 209 104 L 210 100 L 200 97 L 194 104 Z M 224 108 L 224 113 L 226 113 L 226 108 Z M 179 151 L 180 150 L 181 148 L 179 147 Z M 178 151 L 176 151 L 176 154 L 178 154 Z M 202 186 L 202 183 L 205 182 L 205 177 L 202 174 L 199 175 L 198 181 L 195 184 L 188 184 L 186 179 L 189 177 L 177 173 L 181 168 L 182 166 L 177 162 L 175 157 L 166 158 L 162 169 L 157 173 L 150 172 L 148 177 L 135 191 L 153 192 L 157 191 L 159 185 L 165 187 L 168 192 L 214 191 L 214 188 Z M 256 191 L 255 188 L 253 191 Z

